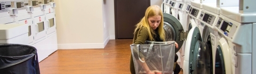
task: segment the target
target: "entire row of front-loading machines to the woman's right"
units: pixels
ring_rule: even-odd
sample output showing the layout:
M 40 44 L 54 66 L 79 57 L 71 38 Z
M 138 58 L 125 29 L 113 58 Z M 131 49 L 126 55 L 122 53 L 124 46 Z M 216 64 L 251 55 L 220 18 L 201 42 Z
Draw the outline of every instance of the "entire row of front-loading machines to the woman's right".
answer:
M 183 73 L 256 73 L 255 3 L 163 0 L 166 38 L 179 44 Z

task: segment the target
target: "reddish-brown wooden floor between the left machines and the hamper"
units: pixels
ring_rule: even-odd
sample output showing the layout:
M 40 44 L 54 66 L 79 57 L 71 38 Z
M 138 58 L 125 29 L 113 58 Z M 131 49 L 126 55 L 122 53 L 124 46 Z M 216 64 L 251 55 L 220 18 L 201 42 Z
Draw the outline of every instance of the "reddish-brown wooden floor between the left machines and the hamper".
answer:
M 132 39 L 110 40 L 105 49 L 57 50 L 39 62 L 41 74 L 129 74 Z M 181 73 L 182 74 L 182 73 Z

